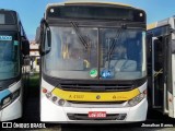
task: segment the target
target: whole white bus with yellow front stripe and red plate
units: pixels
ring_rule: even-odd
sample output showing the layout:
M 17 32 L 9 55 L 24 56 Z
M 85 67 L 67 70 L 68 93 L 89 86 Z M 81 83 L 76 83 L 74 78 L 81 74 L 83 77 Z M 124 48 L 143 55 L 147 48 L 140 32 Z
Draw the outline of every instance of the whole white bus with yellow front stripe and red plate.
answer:
M 48 4 L 36 32 L 40 121 L 144 121 L 145 27 L 144 11 L 130 5 Z

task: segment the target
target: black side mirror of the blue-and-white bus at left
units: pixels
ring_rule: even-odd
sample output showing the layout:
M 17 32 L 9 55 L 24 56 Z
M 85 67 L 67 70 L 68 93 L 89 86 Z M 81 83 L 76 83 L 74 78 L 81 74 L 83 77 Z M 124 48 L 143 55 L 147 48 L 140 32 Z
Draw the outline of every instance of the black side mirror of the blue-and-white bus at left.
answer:
M 24 56 L 30 55 L 30 41 L 24 38 L 22 38 L 22 52 Z

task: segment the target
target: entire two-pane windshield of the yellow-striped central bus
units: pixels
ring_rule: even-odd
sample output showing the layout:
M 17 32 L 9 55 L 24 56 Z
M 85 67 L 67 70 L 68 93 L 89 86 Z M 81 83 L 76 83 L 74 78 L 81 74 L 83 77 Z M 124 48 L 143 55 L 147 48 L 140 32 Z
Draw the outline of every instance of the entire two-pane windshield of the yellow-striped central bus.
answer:
M 145 33 L 142 29 L 50 26 L 45 40 L 44 72 L 71 80 L 136 80 L 145 76 Z M 46 36 L 47 39 L 47 36 Z M 86 48 L 85 48 L 86 47 Z

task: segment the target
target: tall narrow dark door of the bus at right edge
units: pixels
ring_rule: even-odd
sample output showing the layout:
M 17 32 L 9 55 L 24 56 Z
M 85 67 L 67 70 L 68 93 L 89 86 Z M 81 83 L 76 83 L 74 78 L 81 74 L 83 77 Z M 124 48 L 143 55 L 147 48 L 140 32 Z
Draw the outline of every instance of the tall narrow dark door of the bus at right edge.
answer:
M 164 74 L 163 74 L 163 46 L 162 38 L 152 37 L 152 107 L 163 108 L 163 91 L 164 91 Z

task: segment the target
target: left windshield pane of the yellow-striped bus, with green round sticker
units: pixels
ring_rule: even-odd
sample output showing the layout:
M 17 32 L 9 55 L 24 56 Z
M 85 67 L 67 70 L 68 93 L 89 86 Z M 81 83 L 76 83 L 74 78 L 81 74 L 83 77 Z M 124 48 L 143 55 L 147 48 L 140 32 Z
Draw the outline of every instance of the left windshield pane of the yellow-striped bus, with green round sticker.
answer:
M 96 79 L 97 28 L 77 29 L 80 36 L 73 27 L 50 27 L 51 49 L 45 56 L 46 74 L 61 79 Z

